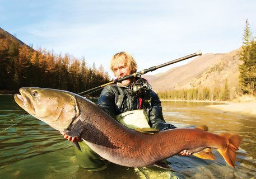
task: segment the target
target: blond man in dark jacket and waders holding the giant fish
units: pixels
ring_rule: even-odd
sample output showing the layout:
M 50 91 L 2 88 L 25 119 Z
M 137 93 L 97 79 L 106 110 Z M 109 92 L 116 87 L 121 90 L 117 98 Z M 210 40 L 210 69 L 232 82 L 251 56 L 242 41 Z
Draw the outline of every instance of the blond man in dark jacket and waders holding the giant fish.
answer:
M 136 73 L 137 63 L 132 55 L 122 51 L 113 56 L 110 61 L 110 69 L 118 79 Z M 161 101 L 157 94 L 151 90 L 151 86 L 143 78 L 133 77 L 120 83 L 106 86 L 101 92 L 97 105 L 115 120 L 120 121 L 120 123 L 129 128 L 139 128 L 138 126 L 142 126 L 142 128 L 154 128 L 159 131 L 176 128 L 174 125 L 165 122 L 162 115 Z M 129 114 L 125 113 L 128 111 L 132 112 Z M 139 117 L 133 117 L 134 114 L 138 114 Z M 129 118 L 125 116 L 128 116 Z M 132 119 L 133 121 L 130 123 L 129 120 Z M 64 134 L 64 138 L 71 142 L 78 142 L 79 140 L 78 137 L 72 138 L 66 134 Z M 90 158 L 87 157 L 87 153 L 90 153 L 89 155 L 93 153 L 86 144 L 83 145 L 85 145 L 83 151 L 85 155 L 83 157 L 82 153 L 76 151 L 77 156 L 81 156 L 78 158 L 78 162 L 80 161 L 80 163 L 83 159 Z M 180 154 L 183 156 L 190 155 L 187 150 L 181 151 Z M 93 154 L 94 158 L 95 155 L 96 154 Z M 85 163 L 83 164 L 83 166 L 85 166 L 83 168 L 89 168 L 87 167 L 89 166 L 88 163 L 91 164 L 90 161 L 83 163 Z M 95 165 L 95 168 L 97 168 L 97 164 Z

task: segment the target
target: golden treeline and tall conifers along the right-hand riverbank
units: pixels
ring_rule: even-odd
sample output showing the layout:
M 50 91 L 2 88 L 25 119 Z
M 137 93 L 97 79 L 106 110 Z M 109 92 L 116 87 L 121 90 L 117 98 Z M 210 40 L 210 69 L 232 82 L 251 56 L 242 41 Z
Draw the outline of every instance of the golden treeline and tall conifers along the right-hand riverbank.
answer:
M 239 87 L 231 93 L 225 81 L 224 88 L 195 87 L 182 90 L 157 92 L 162 99 L 167 100 L 198 100 L 198 101 L 226 101 L 234 100 L 239 96 L 256 96 L 256 41 L 246 20 L 243 34 L 243 45 L 239 52 L 239 59 L 243 62 L 239 65 Z

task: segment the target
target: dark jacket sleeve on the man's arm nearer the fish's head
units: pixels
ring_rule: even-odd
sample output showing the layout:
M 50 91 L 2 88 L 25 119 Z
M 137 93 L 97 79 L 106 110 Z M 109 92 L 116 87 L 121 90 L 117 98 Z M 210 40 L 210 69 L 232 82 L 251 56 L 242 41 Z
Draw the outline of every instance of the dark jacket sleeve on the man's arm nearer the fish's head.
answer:
M 107 114 L 115 117 L 115 93 L 113 87 L 106 86 L 100 94 L 97 105 L 103 109 Z

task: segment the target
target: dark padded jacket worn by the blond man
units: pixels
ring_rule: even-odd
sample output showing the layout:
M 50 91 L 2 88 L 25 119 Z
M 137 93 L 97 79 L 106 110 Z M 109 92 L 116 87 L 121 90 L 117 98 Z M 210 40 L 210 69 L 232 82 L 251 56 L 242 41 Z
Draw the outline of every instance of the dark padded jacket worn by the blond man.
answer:
M 176 128 L 174 125 L 165 123 L 162 116 L 161 101 L 155 92 L 150 90 L 147 94 L 139 97 L 142 98 L 141 109 L 146 110 L 151 128 L 156 128 L 160 131 Z M 115 118 L 116 115 L 123 112 L 137 110 L 139 108 L 139 97 L 129 95 L 129 87 L 112 84 L 103 89 L 97 105 Z

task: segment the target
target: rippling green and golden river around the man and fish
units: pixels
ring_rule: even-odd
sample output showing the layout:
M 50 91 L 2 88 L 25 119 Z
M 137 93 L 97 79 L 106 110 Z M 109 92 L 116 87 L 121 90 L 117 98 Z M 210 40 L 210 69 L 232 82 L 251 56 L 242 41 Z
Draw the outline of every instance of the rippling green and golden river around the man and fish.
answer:
M 0 95 L 1 178 L 254 178 L 256 176 L 256 117 L 208 109 L 204 102 L 162 101 L 167 123 L 178 128 L 207 125 L 215 134 L 243 136 L 236 167 L 227 166 L 213 150 L 215 161 L 193 156 L 167 159 L 173 171 L 157 167 L 129 168 L 109 164 L 103 171 L 78 166 L 73 145 L 58 131 L 26 114 L 12 95 Z

